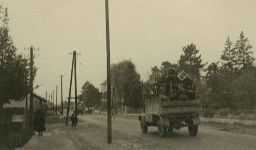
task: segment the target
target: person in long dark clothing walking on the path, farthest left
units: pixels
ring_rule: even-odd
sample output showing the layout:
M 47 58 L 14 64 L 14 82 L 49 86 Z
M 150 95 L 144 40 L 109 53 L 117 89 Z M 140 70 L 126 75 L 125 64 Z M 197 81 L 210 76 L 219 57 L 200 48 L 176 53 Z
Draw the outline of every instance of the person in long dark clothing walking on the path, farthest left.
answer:
M 37 109 L 35 112 L 35 126 L 36 131 L 38 131 L 38 137 L 43 136 L 42 132 L 46 130 L 45 126 L 45 117 L 40 109 Z

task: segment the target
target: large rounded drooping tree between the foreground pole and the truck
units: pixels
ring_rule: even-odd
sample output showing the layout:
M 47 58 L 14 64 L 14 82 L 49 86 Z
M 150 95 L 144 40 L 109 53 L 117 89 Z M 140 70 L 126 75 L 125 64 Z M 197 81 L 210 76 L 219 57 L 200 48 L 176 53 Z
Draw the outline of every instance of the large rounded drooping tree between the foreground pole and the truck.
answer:
M 116 88 L 120 103 L 123 99 L 126 106 L 143 107 L 143 84 L 131 60 L 123 60 L 111 65 L 111 82 L 111 85 Z

